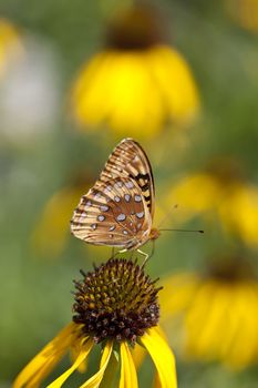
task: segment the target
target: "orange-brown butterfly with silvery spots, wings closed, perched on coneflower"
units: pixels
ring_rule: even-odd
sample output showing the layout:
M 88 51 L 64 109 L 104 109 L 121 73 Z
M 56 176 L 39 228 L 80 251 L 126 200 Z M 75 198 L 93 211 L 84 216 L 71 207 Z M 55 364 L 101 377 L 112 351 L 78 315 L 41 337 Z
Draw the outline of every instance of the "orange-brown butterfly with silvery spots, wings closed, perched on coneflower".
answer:
M 124 139 L 110 155 L 94 186 L 81 197 L 71 232 L 90 244 L 118 247 L 120 252 L 138 249 L 159 236 L 158 229 L 152 227 L 154 205 L 154 180 L 147 155 L 133 139 Z

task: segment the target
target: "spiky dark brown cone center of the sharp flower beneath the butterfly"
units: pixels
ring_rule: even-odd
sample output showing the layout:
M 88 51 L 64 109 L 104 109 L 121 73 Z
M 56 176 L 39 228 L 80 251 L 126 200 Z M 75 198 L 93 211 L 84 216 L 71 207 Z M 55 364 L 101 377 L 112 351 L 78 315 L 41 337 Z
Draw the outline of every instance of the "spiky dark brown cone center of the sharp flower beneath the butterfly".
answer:
M 106 338 L 135 343 L 159 318 L 155 286 L 136 263 L 110 259 L 75 283 L 73 320 L 96 343 Z

